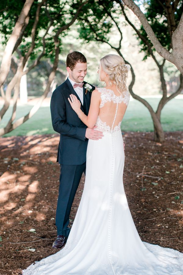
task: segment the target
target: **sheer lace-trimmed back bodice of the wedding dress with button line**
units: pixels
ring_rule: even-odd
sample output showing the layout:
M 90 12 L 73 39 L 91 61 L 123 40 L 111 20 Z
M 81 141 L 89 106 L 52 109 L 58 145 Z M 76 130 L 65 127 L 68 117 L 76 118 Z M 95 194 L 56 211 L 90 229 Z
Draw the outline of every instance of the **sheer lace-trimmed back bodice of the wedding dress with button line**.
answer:
M 121 121 L 130 99 L 128 91 L 122 95 L 115 95 L 113 90 L 97 88 L 101 96 L 99 116 L 96 122 L 97 130 L 102 132 L 120 131 Z

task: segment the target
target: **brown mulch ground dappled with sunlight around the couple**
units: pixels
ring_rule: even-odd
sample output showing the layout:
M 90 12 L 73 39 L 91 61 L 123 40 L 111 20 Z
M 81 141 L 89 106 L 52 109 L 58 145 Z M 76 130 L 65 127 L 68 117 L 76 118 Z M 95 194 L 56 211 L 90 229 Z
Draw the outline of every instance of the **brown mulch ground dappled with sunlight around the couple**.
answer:
M 141 239 L 183 252 L 183 132 L 123 134 L 124 188 Z M 59 187 L 58 135 L 1 138 L 0 274 L 21 274 L 56 253 L 55 213 Z M 75 196 L 76 215 L 84 176 Z

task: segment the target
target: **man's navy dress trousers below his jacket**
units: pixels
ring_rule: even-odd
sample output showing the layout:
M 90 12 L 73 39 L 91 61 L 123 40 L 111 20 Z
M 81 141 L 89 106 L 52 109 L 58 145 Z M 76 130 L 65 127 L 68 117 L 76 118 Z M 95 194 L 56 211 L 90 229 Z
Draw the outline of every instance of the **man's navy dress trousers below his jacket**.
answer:
M 86 171 L 86 162 L 81 165 L 60 164 L 59 197 L 56 208 L 57 235 L 69 236 L 69 216 L 81 176 Z

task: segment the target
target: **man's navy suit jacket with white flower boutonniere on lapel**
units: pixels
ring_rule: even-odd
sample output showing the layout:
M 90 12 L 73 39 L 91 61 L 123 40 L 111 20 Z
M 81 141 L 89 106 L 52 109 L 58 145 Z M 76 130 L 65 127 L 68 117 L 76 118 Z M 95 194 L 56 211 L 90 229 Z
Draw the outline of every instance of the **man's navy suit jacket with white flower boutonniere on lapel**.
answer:
M 84 82 L 84 85 L 85 83 L 87 82 Z M 81 110 L 88 115 L 91 92 L 88 91 L 85 94 L 84 85 Z M 94 86 L 92 86 L 92 90 L 95 90 Z M 87 126 L 71 108 L 68 101 L 70 94 L 74 94 L 79 99 L 67 78 L 52 94 L 50 104 L 52 125 L 53 129 L 60 134 L 57 162 L 66 165 L 79 165 L 86 161 L 88 139 L 85 138 L 85 133 Z

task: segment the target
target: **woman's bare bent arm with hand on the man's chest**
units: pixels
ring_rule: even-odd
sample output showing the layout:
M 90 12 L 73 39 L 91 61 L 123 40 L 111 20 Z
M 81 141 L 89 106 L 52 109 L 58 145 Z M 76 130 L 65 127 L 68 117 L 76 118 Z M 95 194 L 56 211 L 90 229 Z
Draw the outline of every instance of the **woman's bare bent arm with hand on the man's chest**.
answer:
M 97 90 L 94 90 L 91 94 L 91 103 L 88 116 L 81 111 L 81 103 L 77 97 L 73 94 L 68 98 L 71 107 L 77 113 L 81 121 L 88 126 L 88 128 L 93 128 L 96 124 L 99 115 L 99 105 L 100 105 L 100 94 Z

